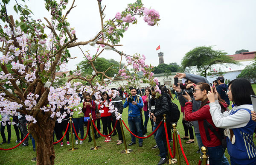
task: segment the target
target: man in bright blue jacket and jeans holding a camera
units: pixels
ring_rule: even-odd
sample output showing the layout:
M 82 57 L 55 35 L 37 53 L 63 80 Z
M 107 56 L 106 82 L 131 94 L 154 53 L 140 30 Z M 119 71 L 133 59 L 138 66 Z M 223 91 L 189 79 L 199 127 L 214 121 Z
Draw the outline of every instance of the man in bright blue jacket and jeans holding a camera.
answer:
M 143 100 L 138 95 L 136 95 L 136 89 L 131 87 L 131 96 L 126 98 L 124 103 L 124 108 L 128 107 L 128 125 L 132 133 L 135 134 L 137 129 L 137 135 L 142 137 L 142 128 L 141 128 L 141 121 L 140 121 L 140 111 L 143 108 Z M 139 98 L 139 99 L 138 99 Z M 131 102 L 130 102 L 130 101 Z M 139 146 L 142 147 L 143 140 L 139 138 Z M 128 144 L 129 146 L 136 144 L 136 139 L 134 135 L 131 134 L 131 143 Z

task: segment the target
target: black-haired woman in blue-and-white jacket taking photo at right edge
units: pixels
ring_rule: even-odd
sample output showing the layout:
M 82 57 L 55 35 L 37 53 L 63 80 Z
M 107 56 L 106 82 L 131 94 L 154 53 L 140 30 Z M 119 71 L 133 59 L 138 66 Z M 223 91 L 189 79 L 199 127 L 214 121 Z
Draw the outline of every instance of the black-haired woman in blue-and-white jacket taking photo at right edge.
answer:
M 256 146 L 253 143 L 253 131 L 256 122 L 251 119 L 250 95 L 255 95 L 250 82 L 237 78 L 229 83 L 228 97 L 233 101 L 233 109 L 221 113 L 218 104 L 218 92 L 211 88 L 207 94 L 210 113 L 216 127 L 224 128 L 227 136 L 227 151 L 231 165 L 256 165 Z

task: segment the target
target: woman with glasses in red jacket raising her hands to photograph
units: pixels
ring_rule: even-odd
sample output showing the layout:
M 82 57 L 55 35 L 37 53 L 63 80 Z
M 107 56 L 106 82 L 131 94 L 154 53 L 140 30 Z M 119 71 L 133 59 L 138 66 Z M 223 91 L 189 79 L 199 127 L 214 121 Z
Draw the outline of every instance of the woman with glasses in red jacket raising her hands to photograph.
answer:
M 219 129 L 214 125 L 212 121 L 212 116 L 210 114 L 209 100 L 207 98 L 207 93 L 210 91 L 210 86 L 207 83 L 198 83 L 194 89 L 194 99 L 195 101 L 202 101 L 200 109 L 196 112 L 192 112 L 192 99 L 190 95 L 186 92 L 186 95 L 183 95 L 184 98 L 188 100 L 185 104 L 185 118 L 187 121 L 198 120 L 199 131 L 201 134 L 202 142 L 208 149 L 209 162 L 211 165 L 229 165 L 227 158 L 224 156 L 225 148 L 222 147 L 221 141 L 218 137 L 210 131 L 209 136 L 210 140 L 207 140 L 206 129 L 204 128 L 204 120 L 206 120 L 212 127 L 218 132 Z M 223 108 L 227 108 L 225 101 L 220 102 L 220 105 Z

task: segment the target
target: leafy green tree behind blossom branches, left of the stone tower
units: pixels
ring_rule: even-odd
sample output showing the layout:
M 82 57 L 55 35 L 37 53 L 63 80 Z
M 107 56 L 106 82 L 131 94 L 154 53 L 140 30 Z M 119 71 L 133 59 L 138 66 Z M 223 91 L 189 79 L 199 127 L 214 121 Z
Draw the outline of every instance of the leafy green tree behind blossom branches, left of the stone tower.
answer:
M 113 77 L 115 74 L 119 71 L 119 62 L 117 62 L 114 59 L 105 59 L 103 57 L 97 57 L 96 62 L 93 62 L 95 68 L 99 72 L 105 72 L 108 70 L 105 74 L 109 77 Z M 121 63 L 121 68 L 125 64 Z M 93 69 L 91 67 L 91 64 L 88 62 L 88 60 L 84 57 L 84 60 L 79 62 L 77 66 L 81 69 L 82 75 L 92 75 Z M 111 67 L 112 66 L 112 67 Z M 111 67 L 109 69 L 109 67 Z

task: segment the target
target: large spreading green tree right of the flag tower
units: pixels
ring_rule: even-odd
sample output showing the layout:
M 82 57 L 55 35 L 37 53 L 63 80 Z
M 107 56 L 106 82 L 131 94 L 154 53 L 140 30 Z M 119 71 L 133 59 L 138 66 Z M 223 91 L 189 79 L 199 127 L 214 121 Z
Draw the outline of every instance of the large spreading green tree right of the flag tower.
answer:
M 213 50 L 212 46 L 200 46 L 186 53 L 181 65 L 183 69 L 196 66 L 201 75 L 206 77 L 211 66 L 218 63 L 239 64 L 222 50 Z

